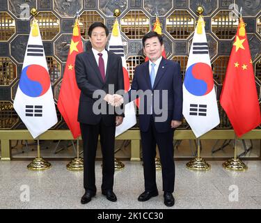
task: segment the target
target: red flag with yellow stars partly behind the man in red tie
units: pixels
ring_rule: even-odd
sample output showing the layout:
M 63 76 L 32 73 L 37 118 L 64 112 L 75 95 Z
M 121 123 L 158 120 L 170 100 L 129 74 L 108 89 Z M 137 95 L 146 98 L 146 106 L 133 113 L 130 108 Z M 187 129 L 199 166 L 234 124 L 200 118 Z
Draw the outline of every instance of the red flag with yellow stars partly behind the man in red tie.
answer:
M 65 71 L 63 73 L 63 82 L 59 93 L 57 107 L 63 116 L 65 123 L 72 132 L 74 139 L 79 137 L 81 129 L 77 121 L 80 90 L 77 86 L 74 71 L 74 62 L 77 54 L 83 52 L 81 42 L 81 32 L 78 20 L 75 21 L 70 51 L 66 62 Z

